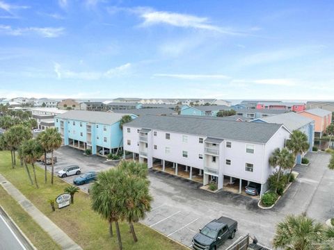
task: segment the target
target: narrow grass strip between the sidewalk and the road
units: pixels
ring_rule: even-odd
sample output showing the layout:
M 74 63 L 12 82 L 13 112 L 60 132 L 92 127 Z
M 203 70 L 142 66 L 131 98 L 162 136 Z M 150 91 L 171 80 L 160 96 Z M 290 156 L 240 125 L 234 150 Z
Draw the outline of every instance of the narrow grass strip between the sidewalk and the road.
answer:
M 37 249 L 61 249 L 1 186 L 0 205 Z

